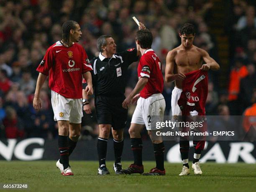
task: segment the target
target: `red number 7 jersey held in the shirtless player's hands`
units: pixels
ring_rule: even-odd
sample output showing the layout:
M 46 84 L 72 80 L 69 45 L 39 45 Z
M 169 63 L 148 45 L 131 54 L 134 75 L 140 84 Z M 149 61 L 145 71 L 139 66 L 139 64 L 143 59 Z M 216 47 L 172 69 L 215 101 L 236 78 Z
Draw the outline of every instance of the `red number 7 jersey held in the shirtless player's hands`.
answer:
M 208 73 L 199 69 L 185 75 L 182 94 L 178 100 L 182 115 L 189 115 L 189 112 L 193 110 L 196 110 L 198 115 L 205 115 L 205 102 L 208 95 Z

